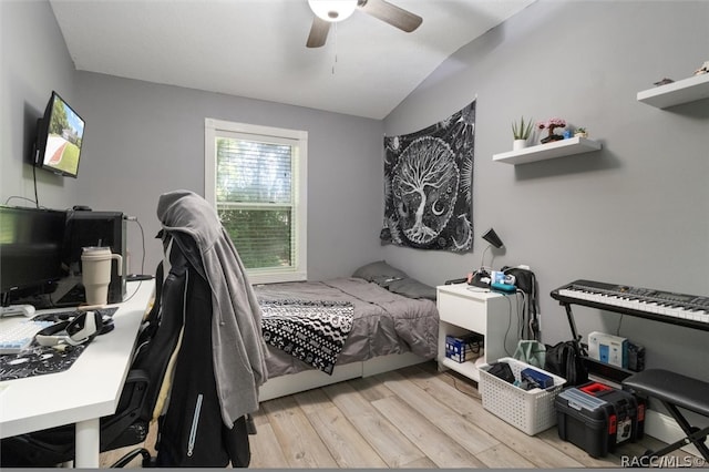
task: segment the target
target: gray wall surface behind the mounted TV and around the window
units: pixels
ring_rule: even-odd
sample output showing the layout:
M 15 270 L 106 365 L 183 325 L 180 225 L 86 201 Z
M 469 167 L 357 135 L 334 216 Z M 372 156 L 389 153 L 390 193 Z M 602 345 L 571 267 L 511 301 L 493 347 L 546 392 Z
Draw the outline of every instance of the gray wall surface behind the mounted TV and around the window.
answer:
M 130 271 L 153 273 L 162 256 L 154 239 L 160 194 L 188 188 L 204 195 L 205 117 L 309 133 L 310 278 L 349 275 L 377 257 L 381 121 L 76 72 L 49 2 L 0 0 L 0 8 L 2 202 L 34 197 L 25 160 L 37 117 L 54 89 L 86 121 L 86 132 L 76 181 L 37 172 L 40 203 L 120 209 L 137 217 L 140 226 L 127 226 Z

